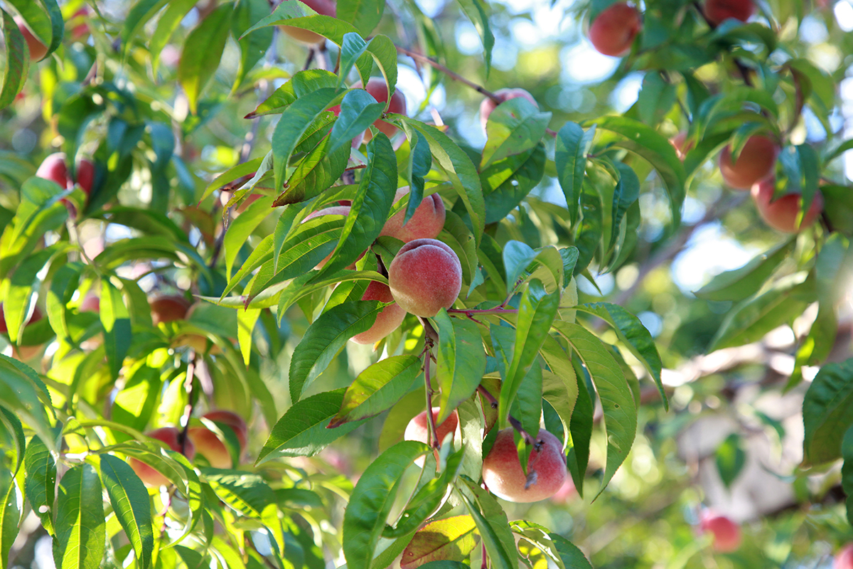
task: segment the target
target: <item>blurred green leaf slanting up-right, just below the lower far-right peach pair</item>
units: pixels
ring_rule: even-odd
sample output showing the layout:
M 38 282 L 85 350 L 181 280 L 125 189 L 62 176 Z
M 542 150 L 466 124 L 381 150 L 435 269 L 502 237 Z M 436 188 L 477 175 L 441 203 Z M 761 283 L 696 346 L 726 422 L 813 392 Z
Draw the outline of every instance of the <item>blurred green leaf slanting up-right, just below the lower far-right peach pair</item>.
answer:
M 727 270 L 711 279 L 711 282 L 701 287 L 695 294 L 699 299 L 734 300 L 746 299 L 757 293 L 770 275 L 784 261 L 797 244 L 795 239 L 789 239 L 766 253 L 761 253 L 740 267 Z

